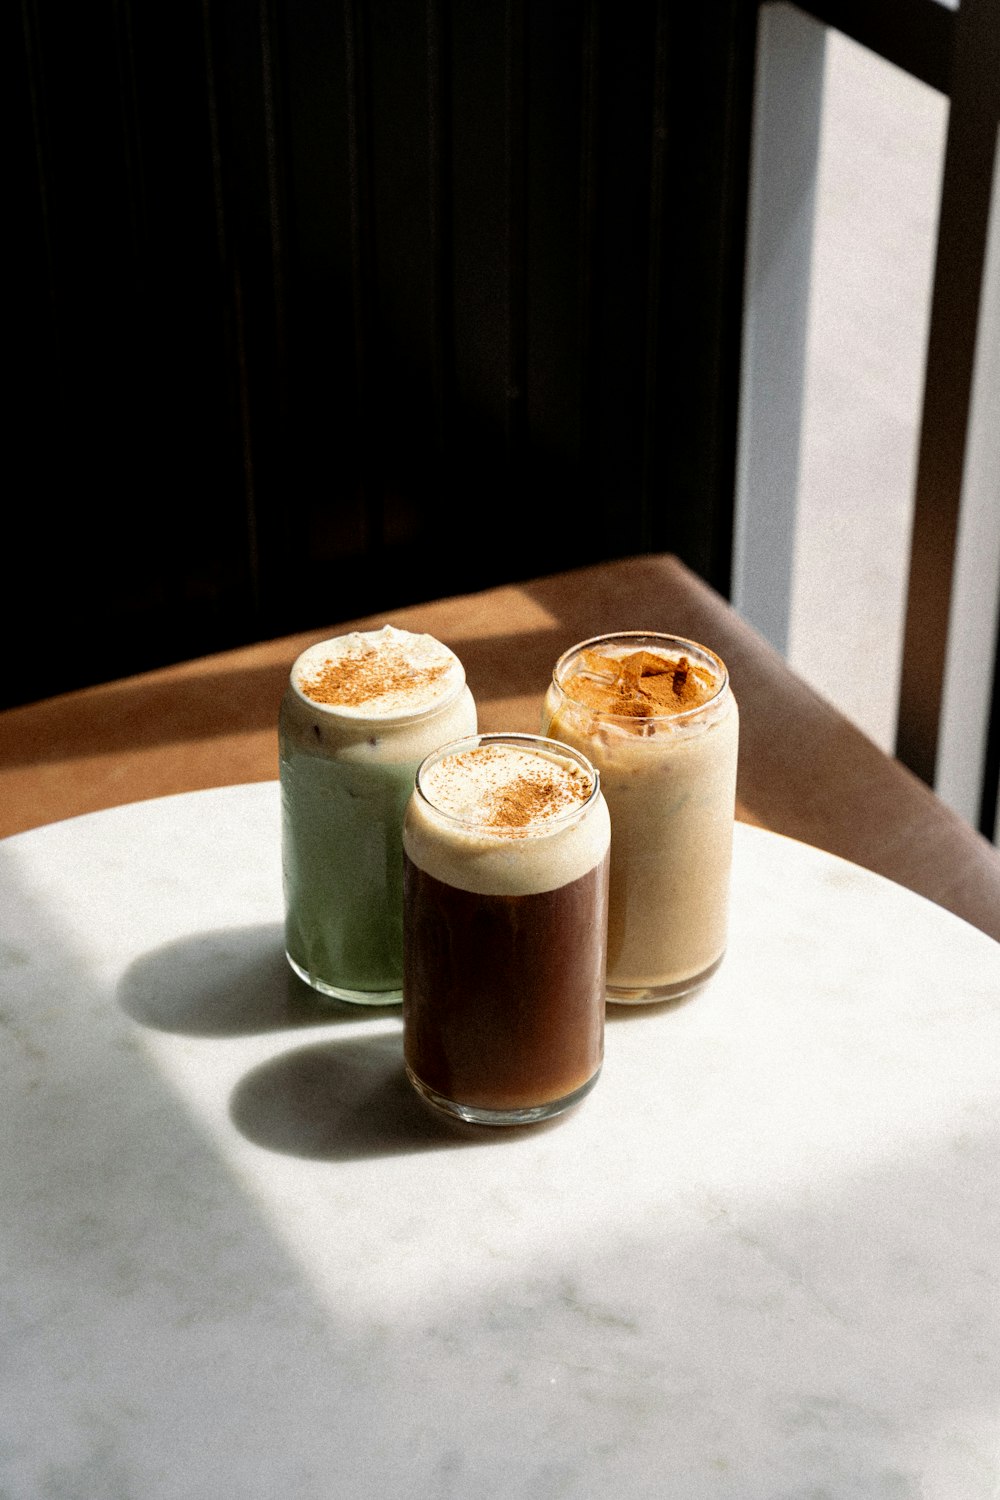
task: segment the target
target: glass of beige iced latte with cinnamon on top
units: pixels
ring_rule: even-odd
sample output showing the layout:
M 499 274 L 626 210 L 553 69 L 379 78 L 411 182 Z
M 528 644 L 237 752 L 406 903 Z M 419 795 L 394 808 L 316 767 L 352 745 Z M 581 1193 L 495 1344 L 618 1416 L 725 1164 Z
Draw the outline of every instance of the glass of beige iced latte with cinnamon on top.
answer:
M 556 663 L 543 730 L 586 754 L 612 814 L 607 998 L 673 999 L 726 951 L 739 716 L 720 658 L 625 632 Z

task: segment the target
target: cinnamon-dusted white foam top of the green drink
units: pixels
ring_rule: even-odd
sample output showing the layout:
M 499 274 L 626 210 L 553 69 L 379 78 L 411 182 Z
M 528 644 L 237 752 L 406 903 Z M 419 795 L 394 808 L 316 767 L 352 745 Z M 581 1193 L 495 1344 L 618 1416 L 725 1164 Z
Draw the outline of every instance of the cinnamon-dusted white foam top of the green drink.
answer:
M 394 718 L 445 702 L 465 682 L 465 672 L 433 636 L 385 626 L 307 646 L 291 681 L 318 708 L 354 718 Z

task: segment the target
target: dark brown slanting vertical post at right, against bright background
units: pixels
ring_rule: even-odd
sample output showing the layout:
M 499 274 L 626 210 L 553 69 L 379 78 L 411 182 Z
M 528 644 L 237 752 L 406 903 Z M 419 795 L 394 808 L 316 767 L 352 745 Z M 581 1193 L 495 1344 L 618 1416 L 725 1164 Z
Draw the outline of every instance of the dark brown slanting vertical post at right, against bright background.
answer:
M 1000 15 L 963 0 L 945 148 L 900 682 L 897 754 L 934 784 L 993 159 Z

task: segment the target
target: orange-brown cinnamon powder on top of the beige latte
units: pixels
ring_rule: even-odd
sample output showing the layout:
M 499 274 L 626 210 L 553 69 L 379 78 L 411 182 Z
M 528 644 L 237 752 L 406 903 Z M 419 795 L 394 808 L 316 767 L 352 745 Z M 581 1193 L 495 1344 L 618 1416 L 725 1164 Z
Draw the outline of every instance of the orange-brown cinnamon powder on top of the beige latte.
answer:
M 621 718 L 684 714 L 706 704 L 718 688 L 715 676 L 687 656 L 631 651 L 606 657 L 583 651 L 580 663 L 583 670 L 562 684 L 565 693 L 586 708 Z

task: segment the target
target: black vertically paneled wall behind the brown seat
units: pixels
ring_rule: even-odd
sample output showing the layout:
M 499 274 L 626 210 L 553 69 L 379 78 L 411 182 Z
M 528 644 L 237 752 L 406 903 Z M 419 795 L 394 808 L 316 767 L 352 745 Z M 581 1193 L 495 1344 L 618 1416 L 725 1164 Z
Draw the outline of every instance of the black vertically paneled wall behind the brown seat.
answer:
M 727 591 L 754 4 L 7 15 L 4 705 L 649 549 Z

